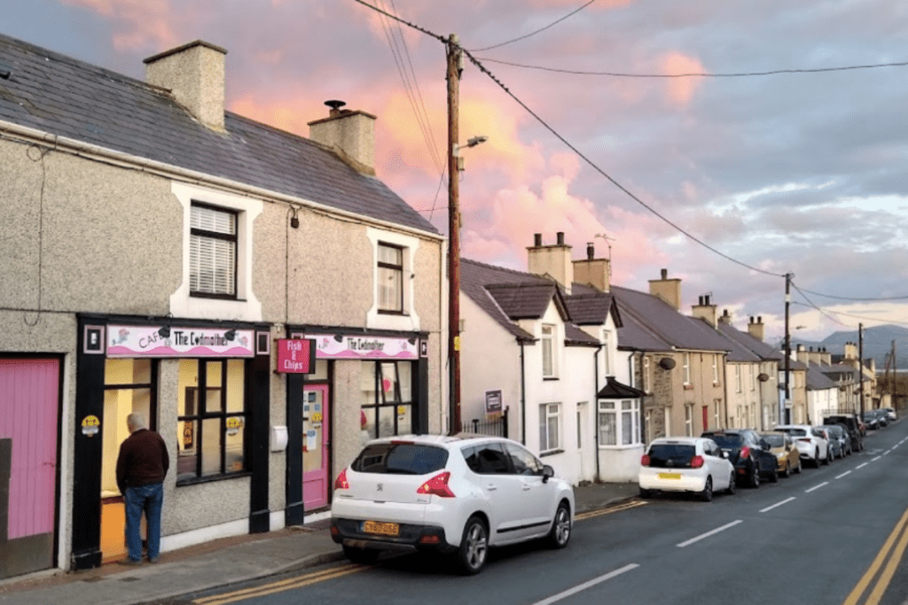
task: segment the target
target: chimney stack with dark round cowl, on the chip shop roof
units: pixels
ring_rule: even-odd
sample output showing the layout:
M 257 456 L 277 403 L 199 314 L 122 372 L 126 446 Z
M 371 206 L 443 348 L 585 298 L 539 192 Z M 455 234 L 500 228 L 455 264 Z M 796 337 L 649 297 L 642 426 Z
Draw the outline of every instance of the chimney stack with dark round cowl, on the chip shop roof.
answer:
M 341 109 L 347 103 L 326 101 L 327 118 L 309 122 L 309 138 L 336 153 L 355 171 L 375 176 L 375 116 Z

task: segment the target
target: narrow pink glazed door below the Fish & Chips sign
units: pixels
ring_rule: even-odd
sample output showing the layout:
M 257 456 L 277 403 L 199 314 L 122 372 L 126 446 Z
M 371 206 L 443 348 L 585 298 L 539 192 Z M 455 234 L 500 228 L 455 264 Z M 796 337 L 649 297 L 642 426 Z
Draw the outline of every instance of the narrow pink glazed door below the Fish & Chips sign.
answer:
M 328 504 L 328 385 L 302 390 L 302 508 Z

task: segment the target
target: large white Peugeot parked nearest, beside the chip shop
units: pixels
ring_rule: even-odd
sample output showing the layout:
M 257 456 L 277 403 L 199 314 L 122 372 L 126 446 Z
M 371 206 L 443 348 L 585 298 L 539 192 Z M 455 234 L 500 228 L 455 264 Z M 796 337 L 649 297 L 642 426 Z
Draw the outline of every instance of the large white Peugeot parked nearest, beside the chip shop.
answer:
M 380 551 L 453 553 L 478 573 L 491 546 L 568 545 L 574 490 L 522 445 L 475 434 L 370 441 L 334 482 L 331 538 L 350 561 Z

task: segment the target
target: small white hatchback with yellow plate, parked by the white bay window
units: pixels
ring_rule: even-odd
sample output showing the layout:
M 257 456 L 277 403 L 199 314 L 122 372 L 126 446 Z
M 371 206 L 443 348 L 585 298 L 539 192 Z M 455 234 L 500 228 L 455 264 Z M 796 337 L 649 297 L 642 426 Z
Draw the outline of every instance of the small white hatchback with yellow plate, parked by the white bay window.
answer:
M 656 491 L 693 492 L 709 502 L 714 489 L 735 493 L 735 467 L 712 439 L 659 437 L 640 459 L 637 482 L 644 498 Z

